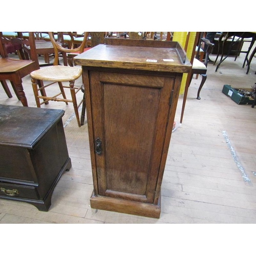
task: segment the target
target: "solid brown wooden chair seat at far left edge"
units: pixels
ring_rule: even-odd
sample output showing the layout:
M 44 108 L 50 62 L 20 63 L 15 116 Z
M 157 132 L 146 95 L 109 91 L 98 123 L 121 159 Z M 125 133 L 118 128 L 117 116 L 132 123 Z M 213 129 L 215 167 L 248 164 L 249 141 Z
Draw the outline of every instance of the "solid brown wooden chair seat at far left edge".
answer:
M 20 60 L 11 58 L 0 58 L 0 72 L 1 73 L 12 73 L 16 72 L 28 65 L 34 63 L 32 60 Z

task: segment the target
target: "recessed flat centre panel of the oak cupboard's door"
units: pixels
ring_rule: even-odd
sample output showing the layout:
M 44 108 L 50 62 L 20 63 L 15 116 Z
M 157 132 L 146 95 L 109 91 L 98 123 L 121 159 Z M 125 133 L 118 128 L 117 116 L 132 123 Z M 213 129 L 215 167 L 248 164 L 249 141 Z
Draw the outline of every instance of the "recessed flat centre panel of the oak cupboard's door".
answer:
M 106 189 L 146 195 L 161 89 L 102 86 Z

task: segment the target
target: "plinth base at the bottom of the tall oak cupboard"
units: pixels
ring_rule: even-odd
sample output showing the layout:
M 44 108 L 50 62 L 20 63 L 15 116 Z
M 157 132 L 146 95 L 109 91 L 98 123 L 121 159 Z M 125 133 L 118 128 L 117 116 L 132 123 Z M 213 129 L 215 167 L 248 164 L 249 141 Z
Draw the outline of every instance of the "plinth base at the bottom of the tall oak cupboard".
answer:
M 161 197 L 158 204 L 147 204 L 124 199 L 117 199 L 104 196 L 96 196 L 92 193 L 90 202 L 91 207 L 99 210 L 109 210 L 121 212 L 123 214 L 132 214 L 150 218 L 160 218 L 161 212 Z

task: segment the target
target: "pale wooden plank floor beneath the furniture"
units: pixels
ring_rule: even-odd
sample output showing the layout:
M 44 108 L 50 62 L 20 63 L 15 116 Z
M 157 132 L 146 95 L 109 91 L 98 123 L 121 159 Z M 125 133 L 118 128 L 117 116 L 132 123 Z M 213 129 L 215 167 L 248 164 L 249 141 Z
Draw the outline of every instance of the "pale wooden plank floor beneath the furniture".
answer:
M 71 104 L 50 102 L 43 107 L 66 111 L 63 122 L 72 168 L 54 189 L 48 212 L 1 199 L 0 223 L 256 223 L 256 107 L 238 105 L 222 93 L 224 84 L 249 89 L 256 82 L 256 59 L 248 75 L 243 60 L 244 54 L 236 61 L 228 57 L 217 72 L 209 64 L 201 100 L 196 99 L 201 77 L 193 79 L 182 125 L 180 95 L 178 127 L 172 135 L 162 183 L 160 219 L 90 207 L 93 184 L 87 123 L 79 128 L 76 119 L 71 119 Z M 29 106 L 35 107 L 29 76 L 23 86 Z M 0 104 L 22 105 L 14 94 L 8 99 L 2 87 Z

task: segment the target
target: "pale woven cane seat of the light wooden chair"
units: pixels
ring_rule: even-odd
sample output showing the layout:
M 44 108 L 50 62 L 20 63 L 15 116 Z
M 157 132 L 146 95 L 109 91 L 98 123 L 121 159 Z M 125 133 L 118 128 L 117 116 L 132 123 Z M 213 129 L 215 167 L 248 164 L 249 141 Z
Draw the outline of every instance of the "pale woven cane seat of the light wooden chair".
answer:
M 34 79 L 46 81 L 73 81 L 79 78 L 81 74 L 81 68 L 51 66 L 35 70 L 30 73 L 30 76 Z

